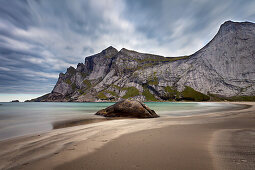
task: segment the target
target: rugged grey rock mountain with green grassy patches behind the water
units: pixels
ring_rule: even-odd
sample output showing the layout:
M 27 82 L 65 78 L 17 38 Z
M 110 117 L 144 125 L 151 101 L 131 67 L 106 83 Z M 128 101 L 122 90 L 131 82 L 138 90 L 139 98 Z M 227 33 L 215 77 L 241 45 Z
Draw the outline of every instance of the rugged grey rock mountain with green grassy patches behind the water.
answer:
M 51 93 L 31 101 L 254 100 L 255 24 L 227 21 L 201 50 L 182 57 L 108 47 L 69 67 Z

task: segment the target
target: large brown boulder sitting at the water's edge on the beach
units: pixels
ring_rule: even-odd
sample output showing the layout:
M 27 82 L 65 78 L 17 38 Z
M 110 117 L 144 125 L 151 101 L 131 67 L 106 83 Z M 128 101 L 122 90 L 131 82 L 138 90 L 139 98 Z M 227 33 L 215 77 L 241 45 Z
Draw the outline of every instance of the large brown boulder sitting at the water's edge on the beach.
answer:
M 154 110 L 137 100 L 122 100 L 102 109 L 96 113 L 105 117 L 136 117 L 136 118 L 156 118 L 159 117 Z

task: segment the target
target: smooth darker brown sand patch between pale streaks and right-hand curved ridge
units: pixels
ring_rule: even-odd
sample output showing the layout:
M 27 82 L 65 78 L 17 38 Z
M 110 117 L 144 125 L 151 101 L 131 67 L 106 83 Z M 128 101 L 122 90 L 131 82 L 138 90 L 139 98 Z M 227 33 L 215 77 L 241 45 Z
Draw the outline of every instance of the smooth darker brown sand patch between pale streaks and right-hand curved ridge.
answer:
M 213 169 L 207 150 L 212 130 L 171 126 L 124 135 L 56 169 Z

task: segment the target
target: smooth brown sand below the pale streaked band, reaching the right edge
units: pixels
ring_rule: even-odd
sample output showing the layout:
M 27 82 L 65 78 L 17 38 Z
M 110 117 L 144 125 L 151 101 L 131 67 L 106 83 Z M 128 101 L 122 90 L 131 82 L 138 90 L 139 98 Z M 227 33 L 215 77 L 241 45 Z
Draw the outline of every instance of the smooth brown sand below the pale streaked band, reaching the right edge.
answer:
M 125 134 L 96 152 L 55 169 L 252 170 L 255 168 L 255 121 L 251 120 L 255 118 L 254 105 L 252 111 L 241 113 L 208 124 L 176 124 Z

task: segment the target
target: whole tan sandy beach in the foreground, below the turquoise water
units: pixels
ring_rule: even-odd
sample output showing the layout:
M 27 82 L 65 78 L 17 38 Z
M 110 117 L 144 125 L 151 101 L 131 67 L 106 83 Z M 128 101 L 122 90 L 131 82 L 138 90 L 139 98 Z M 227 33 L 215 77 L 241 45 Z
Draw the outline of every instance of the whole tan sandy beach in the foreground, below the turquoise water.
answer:
M 0 169 L 255 169 L 255 103 L 120 119 L 0 142 Z

